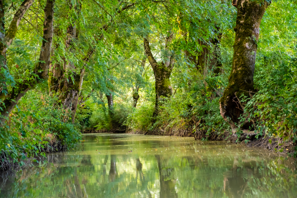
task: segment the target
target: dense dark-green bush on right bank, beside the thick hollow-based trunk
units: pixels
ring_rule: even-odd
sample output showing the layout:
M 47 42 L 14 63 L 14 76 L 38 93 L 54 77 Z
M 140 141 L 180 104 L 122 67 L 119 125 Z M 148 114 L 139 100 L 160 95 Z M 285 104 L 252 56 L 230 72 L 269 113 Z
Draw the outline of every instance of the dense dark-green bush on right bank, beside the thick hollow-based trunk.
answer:
M 256 132 L 284 141 L 296 141 L 297 131 L 297 60 L 277 66 L 261 67 L 256 73 L 259 91 L 245 106 L 245 117 Z M 296 153 L 295 153 L 296 155 Z

